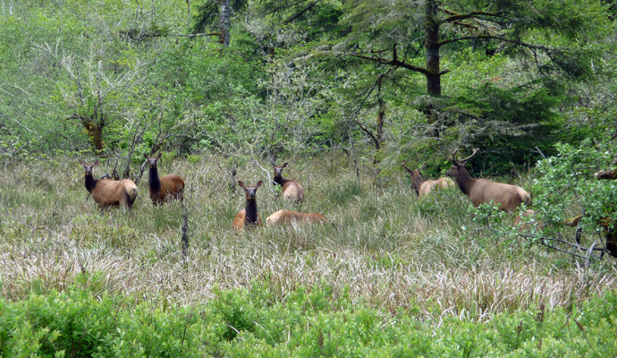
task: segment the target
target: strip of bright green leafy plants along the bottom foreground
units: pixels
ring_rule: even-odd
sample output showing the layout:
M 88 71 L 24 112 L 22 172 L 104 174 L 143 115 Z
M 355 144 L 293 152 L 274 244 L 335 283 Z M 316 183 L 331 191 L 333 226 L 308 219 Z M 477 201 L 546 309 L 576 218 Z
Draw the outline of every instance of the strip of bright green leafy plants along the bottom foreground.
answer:
M 414 310 L 390 314 L 333 301 L 326 285 L 299 287 L 284 302 L 267 287 L 217 291 L 207 306 L 152 307 L 79 287 L 19 303 L 0 299 L 4 357 L 203 356 L 614 356 L 617 296 L 568 310 L 545 305 L 488 322 L 446 318 L 438 327 Z M 454 333 L 453 333 L 454 332 Z

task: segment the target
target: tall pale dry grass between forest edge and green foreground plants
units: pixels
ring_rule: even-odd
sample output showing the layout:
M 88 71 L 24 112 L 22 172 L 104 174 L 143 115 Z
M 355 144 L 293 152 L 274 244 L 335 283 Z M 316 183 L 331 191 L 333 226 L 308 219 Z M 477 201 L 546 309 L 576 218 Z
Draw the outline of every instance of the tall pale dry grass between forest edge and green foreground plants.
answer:
M 358 180 L 345 158 L 332 154 L 311 159 L 308 171 L 304 162 L 287 169 L 307 189 L 300 208 L 276 199 L 268 185 L 258 190 L 264 220 L 279 209 L 299 209 L 332 223 L 234 234 L 232 218 L 244 199 L 229 191 L 219 160 L 164 161 L 159 168 L 187 183 L 188 260 L 181 251 L 182 206 L 154 208 L 148 174 L 131 212 L 99 211 L 86 200 L 75 159 L 4 164 L 0 294 L 19 300 L 83 285 L 166 305 L 207 302 L 215 286 L 250 287 L 256 280 L 277 301 L 299 286 L 325 283 L 334 298 L 348 295 L 385 311 L 413 308 L 438 322 L 446 315 L 490 320 L 530 304 L 568 307 L 615 287 L 613 259 L 583 268 L 559 252 L 506 245 L 475 230 L 469 200 L 458 189 L 418 200 L 402 172 L 376 185 L 368 166 Z M 237 177 L 267 180 L 252 162 Z

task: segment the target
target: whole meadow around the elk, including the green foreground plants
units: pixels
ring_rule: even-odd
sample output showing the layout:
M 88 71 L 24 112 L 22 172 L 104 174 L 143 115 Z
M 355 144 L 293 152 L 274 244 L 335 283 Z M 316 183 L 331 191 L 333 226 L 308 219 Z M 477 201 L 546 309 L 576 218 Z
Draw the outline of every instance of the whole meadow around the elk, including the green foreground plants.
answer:
M 221 160 L 159 164 L 159 175 L 181 175 L 187 185 L 186 260 L 182 205 L 153 207 L 147 171 L 131 212 L 99 211 L 86 200 L 77 158 L 0 164 L 0 355 L 3 350 L 6 356 L 616 352 L 608 343 L 613 338 L 602 339 L 613 337 L 617 326 L 613 258 L 584 265 L 522 238 L 512 242 L 475 222 L 458 188 L 418 199 L 402 170 L 376 179 L 367 163 L 357 176 L 337 154 L 308 163 L 290 158 L 283 176 L 304 186 L 300 207 L 277 199 L 255 162 L 237 174 L 247 184 L 264 180 L 257 193 L 264 222 L 279 209 L 296 209 L 319 212 L 330 223 L 235 234 L 232 219 L 244 198 L 230 191 Z M 271 168 L 265 161 L 261 165 Z M 104 167 L 95 167 L 95 177 L 103 174 Z M 522 175 L 514 183 L 529 189 L 532 177 Z M 507 226 L 511 219 L 494 225 Z M 571 234 L 568 230 L 563 234 Z M 82 306 L 115 313 L 74 311 Z M 97 326 L 94 317 L 109 315 L 113 328 L 97 339 L 88 334 L 62 340 L 79 329 L 66 328 L 59 317 L 73 317 L 69 321 L 81 322 L 86 331 Z M 553 323 L 538 328 L 545 315 L 554 315 Z M 131 326 L 138 319 L 139 328 Z M 178 327 L 156 326 L 158 320 Z M 144 333 L 146 322 L 157 328 Z M 149 340 L 156 334 L 162 336 L 153 345 Z M 160 343 L 173 337 L 174 344 Z M 89 351 L 80 351 L 90 340 Z

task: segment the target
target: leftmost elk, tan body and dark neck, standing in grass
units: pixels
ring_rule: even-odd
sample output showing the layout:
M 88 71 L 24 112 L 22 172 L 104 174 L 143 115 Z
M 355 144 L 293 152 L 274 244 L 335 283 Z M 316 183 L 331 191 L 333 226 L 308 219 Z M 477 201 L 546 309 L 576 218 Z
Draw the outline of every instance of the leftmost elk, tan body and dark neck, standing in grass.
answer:
M 131 209 L 133 201 L 137 198 L 137 185 L 129 179 L 111 180 L 95 179 L 92 177 L 92 168 L 97 166 L 98 160 L 94 164 L 86 164 L 80 160 L 86 172 L 86 190 L 92 195 L 92 199 L 98 204 L 99 209 L 120 206 Z

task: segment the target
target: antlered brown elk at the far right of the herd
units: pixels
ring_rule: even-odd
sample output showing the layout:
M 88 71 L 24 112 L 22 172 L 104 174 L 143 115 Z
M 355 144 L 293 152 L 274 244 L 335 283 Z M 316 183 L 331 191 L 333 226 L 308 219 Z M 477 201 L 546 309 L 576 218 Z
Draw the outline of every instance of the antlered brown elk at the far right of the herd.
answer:
M 469 159 L 478 154 L 479 149 L 474 149 L 468 158 L 458 160 L 454 158 L 457 150 L 451 152 L 452 158 L 448 158 L 452 161 L 452 167 L 448 169 L 445 175 L 455 178 L 461 192 L 469 196 L 475 207 L 491 200 L 499 206 L 499 209 L 510 212 L 515 211 L 521 203 L 531 205 L 531 197 L 529 197 L 528 192 L 525 192 L 519 186 L 471 178 L 467 169 L 465 169 L 465 165 L 467 165 Z

